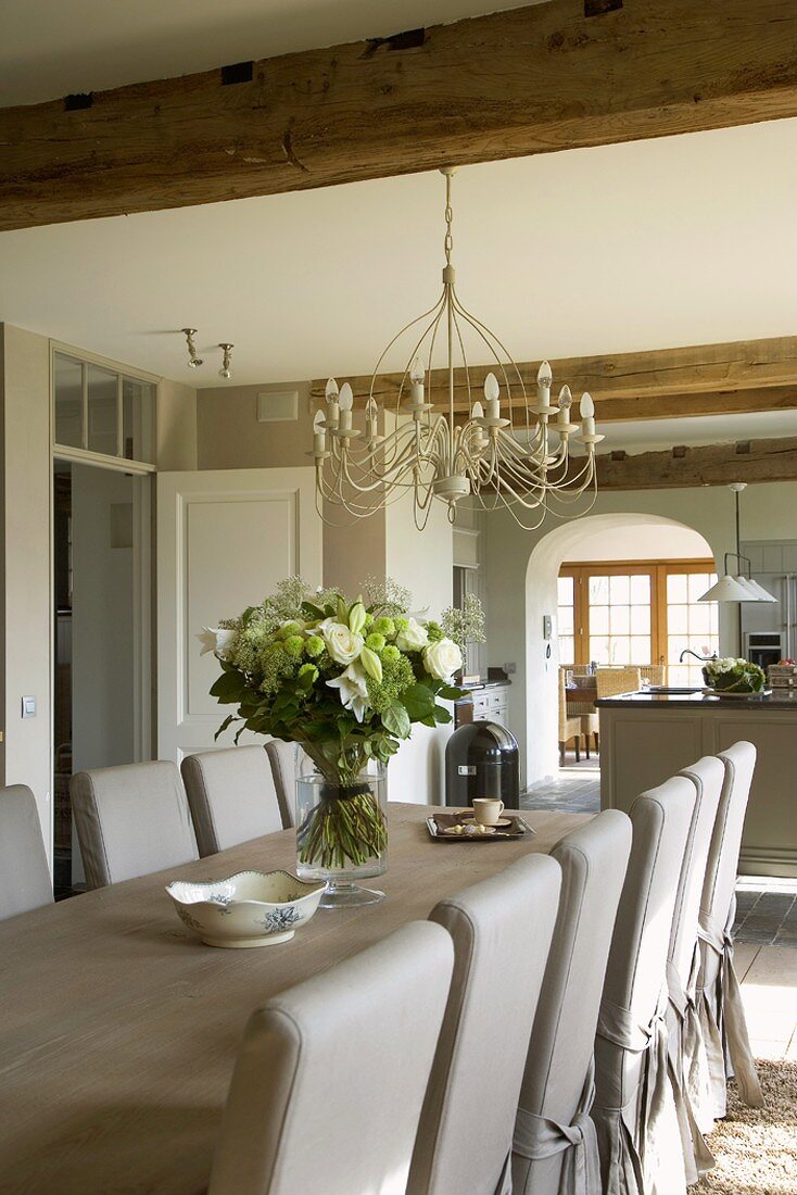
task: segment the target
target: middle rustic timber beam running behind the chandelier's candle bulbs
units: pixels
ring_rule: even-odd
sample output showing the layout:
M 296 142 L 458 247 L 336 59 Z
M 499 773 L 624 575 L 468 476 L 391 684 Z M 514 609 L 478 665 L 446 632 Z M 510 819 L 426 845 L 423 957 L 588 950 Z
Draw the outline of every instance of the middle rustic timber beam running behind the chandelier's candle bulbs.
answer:
M 476 397 L 480 397 L 490 368 L 471 369 Z M 539 361 L 519 364 L 527 394 L 535 393 L 538 368 Z M 552 361 L 551 368 L 552 393 L 556 396 L 564 382 L 576 400 L 583 391 L 589 391 L 595 399 L 597 418 L 606 423 L 797 407 L 797 336 L 600 357 L 563 357 Z M 467 410 L 464 376 L 461 369 L 455 372 L 454 409 L 459 412 Z M 345 380 L 351 384 L 356 405 L 362 406 L 369 394 L 370 376 Z M 433 370 L 427 397 L 441 407 L 448 405 L 447 380 L 445 369 Z M 387 406 L 394 404 L 400 382 L 400 373 L 380 374 L 374 385 L 376 399 Z M 326 379 L 312 382 L 311 392 L 319 405 L 325 386 Z M 514 394 L 514 405 L 522 405 L 519 391 Z

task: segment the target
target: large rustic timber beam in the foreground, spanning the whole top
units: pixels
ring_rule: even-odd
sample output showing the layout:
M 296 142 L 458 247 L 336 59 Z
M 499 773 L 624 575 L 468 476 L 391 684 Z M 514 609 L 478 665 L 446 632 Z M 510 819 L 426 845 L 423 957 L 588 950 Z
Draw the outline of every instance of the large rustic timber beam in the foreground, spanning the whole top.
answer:
M 793 0 L 550 0 L 5 109 L 0 229 L 793 116 Z

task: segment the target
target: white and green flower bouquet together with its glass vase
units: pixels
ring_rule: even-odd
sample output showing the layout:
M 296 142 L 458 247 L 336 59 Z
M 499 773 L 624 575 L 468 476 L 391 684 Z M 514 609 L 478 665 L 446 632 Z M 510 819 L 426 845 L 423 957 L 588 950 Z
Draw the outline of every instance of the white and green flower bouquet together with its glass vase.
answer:
M 410 607 L 409 590 L 391 581 L 368 580 L 350 600 L 292 577 L 203 636 L 222 668 L 210 693 L 238 707 L 217 735 L 240 722 L 235 741 L 252 730 L 304 748 L 311 773 L 306 766 L 296 786 L 298 868 L 327 881 L 327 906 L 376 895 L 351 881 L 387 869 L 385 766 L 413 723 L 450 722 L 439 699 L 464 695 L 452 684 L 462 648 L 483 637 L 476 599 L 439 623 Z

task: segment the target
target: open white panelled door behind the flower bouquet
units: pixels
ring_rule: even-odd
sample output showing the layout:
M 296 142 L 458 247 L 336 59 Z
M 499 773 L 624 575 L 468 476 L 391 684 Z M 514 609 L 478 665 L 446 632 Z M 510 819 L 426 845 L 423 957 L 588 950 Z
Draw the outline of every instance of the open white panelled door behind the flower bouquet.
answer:
M 312 467 L 158 474 L 158 759 L 232 746 L 213 741 L 232 709 L 208 693 L 219 664 L 196 636 L 283 577 L 321 583 L 314 484 Z

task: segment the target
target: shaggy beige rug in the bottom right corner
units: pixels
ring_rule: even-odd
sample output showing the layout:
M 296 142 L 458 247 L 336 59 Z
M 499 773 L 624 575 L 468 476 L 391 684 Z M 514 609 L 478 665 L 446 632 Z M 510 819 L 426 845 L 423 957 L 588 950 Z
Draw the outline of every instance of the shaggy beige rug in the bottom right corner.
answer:
M 748 1108 L 730 1084 L 728 1117 L 709 1136 L 717 1159 L 692 1195 L 796 1195 L 797 1062 L 756 1064 L 766 1107 Z

